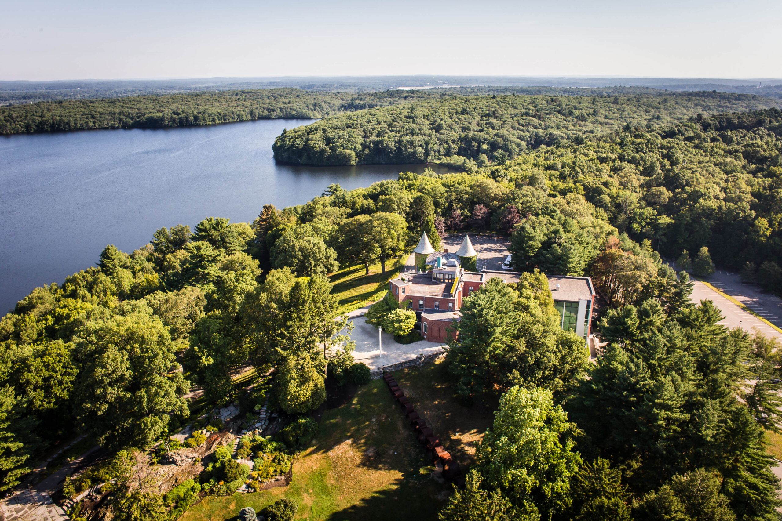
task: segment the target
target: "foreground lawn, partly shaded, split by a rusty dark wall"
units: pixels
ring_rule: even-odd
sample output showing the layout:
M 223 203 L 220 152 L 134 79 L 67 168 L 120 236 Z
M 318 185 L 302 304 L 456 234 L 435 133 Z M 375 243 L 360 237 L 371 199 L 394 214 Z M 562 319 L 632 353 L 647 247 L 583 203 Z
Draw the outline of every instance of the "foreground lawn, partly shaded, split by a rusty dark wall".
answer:
M 450 397 L 443 364 L 395 375 L 447 450 L 460 463 L 469 462 L 491 413 L 465 408 Z M 452 487 L 433 470 L 386 383 L 373 380 L 346 405 L 323 414 L 317 437 L 293 465 L 289 487 L 208 498 L 181 519 L 230 519 L 245 506 L 257 511 L 287 496 L 301 505 L 296 519 L 434 521 Z

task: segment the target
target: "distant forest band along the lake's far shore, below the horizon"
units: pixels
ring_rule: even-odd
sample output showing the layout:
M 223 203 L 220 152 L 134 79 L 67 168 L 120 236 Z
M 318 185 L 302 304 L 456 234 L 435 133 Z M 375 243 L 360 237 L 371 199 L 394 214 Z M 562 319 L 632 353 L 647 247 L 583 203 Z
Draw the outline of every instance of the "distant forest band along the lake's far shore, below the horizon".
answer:
M 314 119 L 364 109 L 400 105 L 416 100 L 440 99 L 452 95 L 655 95 L 662 91 L 647 87 L 554 88 L 554 87 L 461 87 L 420 91 L 321 92 L 296 88 L 206 91 L 175 95 L 140 95 L 124 98 L 72 99 L 0 107 L 0 134 L 91 130 L 101 128 L 191 127 L 239 121 L 304 118 Z M 672 95 L 677 96 L 677 95 Z M 698 105 L 696 112 L 746 110 L 774 106 L 752 95 L 698 93 L 690 97 L 711 102 Z M 769 105 L 770 103 L 770 105 Z M 674 103 L 676 105 L 676 103 Z M 672 107 L 673 109 L 673 107 Z M 626 112 L 626 111 L 625 111 Z M 662 112 L 665 112 L 664 110 Z M 673 109 L 678 116 L 684 112 Z M 665 120 L 667 121 L 667 120 Z

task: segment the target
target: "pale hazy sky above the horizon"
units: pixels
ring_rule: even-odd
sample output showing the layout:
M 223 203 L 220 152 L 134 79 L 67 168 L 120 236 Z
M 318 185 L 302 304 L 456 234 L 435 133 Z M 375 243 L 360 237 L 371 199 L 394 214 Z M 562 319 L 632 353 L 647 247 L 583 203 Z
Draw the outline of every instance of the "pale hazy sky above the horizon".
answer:
M 0 80 L 782 77 L 782 0 L 0 5 Z

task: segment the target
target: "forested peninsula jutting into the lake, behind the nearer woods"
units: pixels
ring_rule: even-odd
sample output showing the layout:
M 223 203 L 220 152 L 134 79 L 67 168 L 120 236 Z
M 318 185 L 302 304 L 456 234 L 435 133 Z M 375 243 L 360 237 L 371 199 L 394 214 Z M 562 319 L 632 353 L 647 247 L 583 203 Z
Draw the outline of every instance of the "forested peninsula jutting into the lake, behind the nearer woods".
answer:
M 485 166 L 542 145 L 580 143 L 626 126 L 658 127 L 698 113 L 773 106 L 776 102 L 765 98 L 716 92 L 429 99 L 285 130 L 274 141 L 274 159 L 314 165 Z

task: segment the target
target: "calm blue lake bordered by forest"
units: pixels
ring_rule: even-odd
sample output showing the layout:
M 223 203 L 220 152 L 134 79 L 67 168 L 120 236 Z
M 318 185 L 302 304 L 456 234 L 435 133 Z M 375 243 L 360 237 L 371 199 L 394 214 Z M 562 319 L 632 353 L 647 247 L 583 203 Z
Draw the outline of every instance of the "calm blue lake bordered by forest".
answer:
M 0 316 L 34 287 L 93 266 L 106 244 L 132 252 L 160 227 L 252 222 L 265 204 L 303 204 L 331 183 L 365 187 L 425 167 L 275 163 L 274 137 L 306 123 L 0 137 Z

